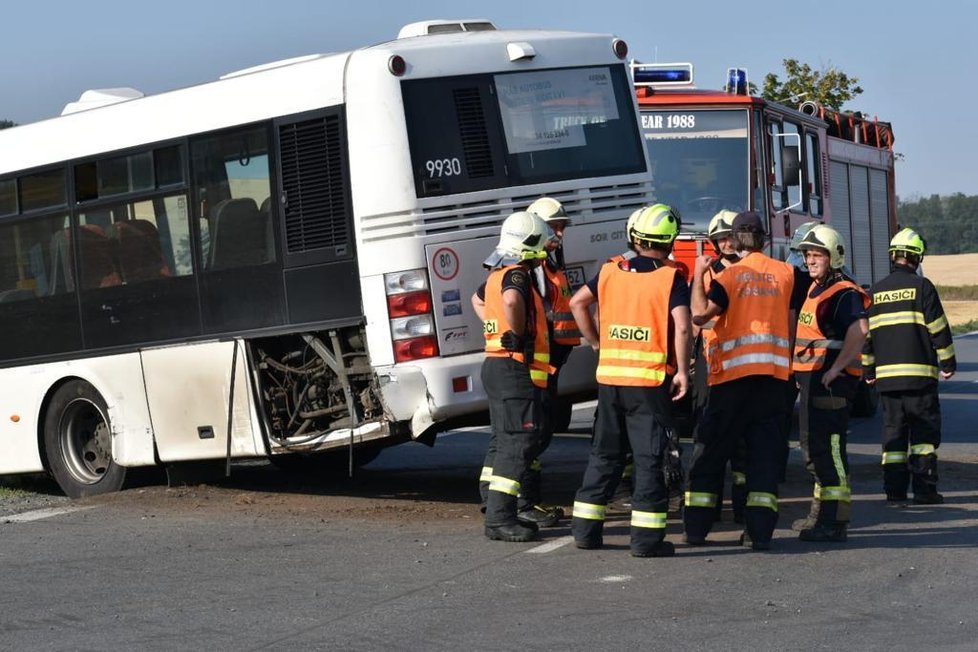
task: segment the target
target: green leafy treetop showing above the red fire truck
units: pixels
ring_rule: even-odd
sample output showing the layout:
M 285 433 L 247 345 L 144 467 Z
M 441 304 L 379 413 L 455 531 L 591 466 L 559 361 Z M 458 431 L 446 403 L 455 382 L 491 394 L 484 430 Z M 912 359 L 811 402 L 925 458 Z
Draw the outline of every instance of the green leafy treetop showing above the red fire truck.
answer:
M 773 72 L 764 76 L 764 99 L 797 106 L 812 101 L 835 110 L 863 92 L 857 77 L 850 77 L 835 66 L 814 70 L 797 59 L 782 60 L 785 80 Z

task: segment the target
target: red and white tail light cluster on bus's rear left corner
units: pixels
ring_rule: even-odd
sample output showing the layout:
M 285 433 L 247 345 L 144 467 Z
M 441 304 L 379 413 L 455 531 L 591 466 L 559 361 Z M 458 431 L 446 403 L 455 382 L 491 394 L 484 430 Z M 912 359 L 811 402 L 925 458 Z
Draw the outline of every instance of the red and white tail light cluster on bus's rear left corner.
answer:
M 434 302 L 423 269 L 384 274 L 394 361 L 407 362 L 438 355 Z

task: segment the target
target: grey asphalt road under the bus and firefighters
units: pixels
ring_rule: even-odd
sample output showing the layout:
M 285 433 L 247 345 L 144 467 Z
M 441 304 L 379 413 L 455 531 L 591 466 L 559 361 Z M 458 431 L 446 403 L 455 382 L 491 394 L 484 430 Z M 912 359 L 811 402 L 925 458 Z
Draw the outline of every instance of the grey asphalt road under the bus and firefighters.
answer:
M 488 541 L 474 486 L 485 435 L 457 432 L 385 451 L 353 481 L 258 464 L 214 486 L 149 480 L 66 501 L 42 484 L 26 507 L 0 502 L 0 650 L 973 650 L 978 338 L 956 344 L 946 504 L 887 504 L 879 420 L 854 421 L 846 544 L 788 529 L 811 491 L 797 451 L 769 553 L 734 545 L 729 519 L 714 545 L 687 547 L 672 514 L 677 556 L 634 559 L 624 509 L 599 551 L 566 527 Z M 573 499 L 590 412 L 544 457 L 552 502 Z

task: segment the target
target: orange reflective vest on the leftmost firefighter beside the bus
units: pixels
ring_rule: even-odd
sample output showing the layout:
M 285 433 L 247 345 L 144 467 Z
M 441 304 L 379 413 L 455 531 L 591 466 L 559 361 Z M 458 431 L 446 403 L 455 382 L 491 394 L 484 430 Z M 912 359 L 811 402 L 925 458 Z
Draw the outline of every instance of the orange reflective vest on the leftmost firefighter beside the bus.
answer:
M 547 316 L 543 308 L 540 293 L 532 287 L 533 279 L 530 270 L 521 265 L 507 265 L 494 269 L 486 280 L 485 320 L 482 322 L 482 332 L 486 338 L 486 355 L 497 358 L 513 358 L 526 364 L 523 353 L 507 351 L 500 339 L 503 333 L 510 330 L 503 312 L 503 278 L 506 272 L 519 268 L 526 272 L 527 283 L 530 287 L 528 294 L 532 297 L 532 305 L 526 307 L 527 324 L 525 333 L 533 336 L 533 360 L 527 366 L 530 368 L 530 380 L 537 387 L 547 386 L 547 377 L 554 372 L 550 366 L 550 337 L 547 333 Z

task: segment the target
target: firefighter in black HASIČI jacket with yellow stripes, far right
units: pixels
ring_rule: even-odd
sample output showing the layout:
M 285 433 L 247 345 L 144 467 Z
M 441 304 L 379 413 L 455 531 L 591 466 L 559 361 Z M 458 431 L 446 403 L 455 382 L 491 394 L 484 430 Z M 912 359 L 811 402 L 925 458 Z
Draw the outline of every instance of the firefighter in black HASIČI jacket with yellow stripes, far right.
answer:
M 924 239 L 903 229 L 890 241 L 892 272 L 871 289 L 869 339 L 863 368 L 883 406 L 883 489 L 886 499 L 938 505 L 937 447 L 941 444 L 938 377 L 954 375 L 951 328 L 933 283 L 917 274 Z M 910 455 L 908 468 L 907 447 Z

